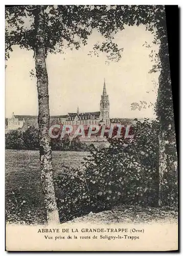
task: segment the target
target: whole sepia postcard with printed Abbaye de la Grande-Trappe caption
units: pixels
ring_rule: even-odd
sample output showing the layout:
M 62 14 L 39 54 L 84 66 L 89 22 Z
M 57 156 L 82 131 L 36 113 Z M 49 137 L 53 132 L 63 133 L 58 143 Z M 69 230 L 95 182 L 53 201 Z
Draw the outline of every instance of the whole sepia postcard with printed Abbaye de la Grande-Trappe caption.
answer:
M 5 58 L 6 249 L 176 250 L 165 6 L 6 6 Z

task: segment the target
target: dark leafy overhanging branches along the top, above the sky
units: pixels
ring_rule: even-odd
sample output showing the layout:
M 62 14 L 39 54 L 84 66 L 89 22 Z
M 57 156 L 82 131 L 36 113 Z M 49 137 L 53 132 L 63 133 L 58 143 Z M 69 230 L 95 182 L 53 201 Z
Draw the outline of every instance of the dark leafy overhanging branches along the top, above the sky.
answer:
M 6 58 L 13 45 L 28 50 L 35 48 L 34 16 L 39 6 L 6 7 Z M 106 52 L 107 58 L 119 60 L 123 49 L 113 42 L 114 35 L 124 29 L 124 25 L 143 24 L 154 33 L 154 41 L 165 19 L 163 6 L 107 6 L 107 5 L 58 5 L 44 6 L 46 54 L 64 52 L 64 47 L 79 49 L 87 44 L 89 35 L 96 29 L 104 37 L 102 44 L 94 45 L 89 54 Z M 29 21 L 29 26 L 27 25 Z

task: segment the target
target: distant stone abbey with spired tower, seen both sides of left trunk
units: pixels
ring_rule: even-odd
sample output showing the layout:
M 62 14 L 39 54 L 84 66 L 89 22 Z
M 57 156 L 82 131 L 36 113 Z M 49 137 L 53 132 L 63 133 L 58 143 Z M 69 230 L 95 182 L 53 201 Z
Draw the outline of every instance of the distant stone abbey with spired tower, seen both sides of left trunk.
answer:
M 110 125 L 109 117 L 109 97 L 106 92 L 106 84 L 104 79 L 103 93 L 100 100 L 100 111 L 97 112 L 80 112 L 79 107 L 76 113 L 67 113 L 66 115 L 51 116 L 51 124 L 59 122 L 68 125 L 90 125 L 98 124 L 106 126 Z M 19 116 L 12 115 L 11 118 L 6 119 L 6 130 L 21 130 L 26 131 L 30 126 L 38 127 L 37 116 Z

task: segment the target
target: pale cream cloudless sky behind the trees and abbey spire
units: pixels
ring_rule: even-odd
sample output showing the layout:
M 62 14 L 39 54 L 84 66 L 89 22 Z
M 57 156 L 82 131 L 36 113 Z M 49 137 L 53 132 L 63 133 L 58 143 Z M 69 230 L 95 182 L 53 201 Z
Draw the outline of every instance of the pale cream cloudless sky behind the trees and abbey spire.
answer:
M 104 78 L 110 101 L 110 117 L 154 118 L 152 108 L 131 110 L 132 102 L 155 103 L 159 73 L 149 74 L 153 61 L 150 50 L 144 45 L 151 44 L 153 35 L 143 25 L 126 26 L 113 40 L 119 48 L 124 48 L 118 62 L 106 64 L 106 54 L 89 56 L 93 45 L 104 38 L 94 31 L 86 46 L 80 50 L 65 50 L 65 54 L 49 54 L 47 69 L 49 76 L 50 114 L 64 115 L 76 112 L 100 110 L 100 99 Z M 153 45 L 158 52 L 158 46 Z M 36 78 L 30 77 L 35 68 L 33 51 L 13 47 L 6 68 L 6 117 L 15 115 L 37 115 L 38 100 Z

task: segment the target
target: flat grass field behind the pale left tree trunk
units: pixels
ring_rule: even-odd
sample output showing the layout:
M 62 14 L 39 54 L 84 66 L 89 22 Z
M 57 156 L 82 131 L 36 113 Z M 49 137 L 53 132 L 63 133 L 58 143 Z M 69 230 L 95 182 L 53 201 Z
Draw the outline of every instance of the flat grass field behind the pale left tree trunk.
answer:
M 54 151 L 54 175 L 61 172 L 62 166 L 81 167 L 83 157 L 87 155 L 88 152 Z M 22 216 L 28 215 L 30 223 L 44 223 L 39 152 L 6 150 L 5 162 L 7 219 L 10 222 L 16 219 L 21 223 Z M 19 217 L 16 215 L 17 210 L 20 211 Z

